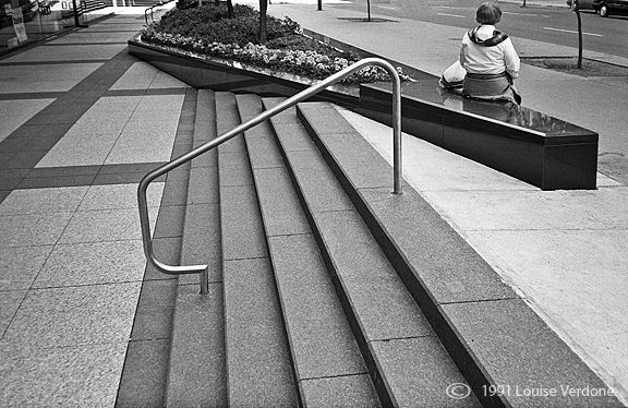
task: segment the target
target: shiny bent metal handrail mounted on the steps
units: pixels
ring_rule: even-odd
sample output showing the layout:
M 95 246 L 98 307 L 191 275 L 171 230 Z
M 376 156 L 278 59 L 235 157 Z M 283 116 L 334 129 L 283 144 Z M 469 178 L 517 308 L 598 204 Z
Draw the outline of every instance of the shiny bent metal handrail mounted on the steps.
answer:
M 146 190 L 148 184 L 158 177 L 167 173 L 168 171 L 183 165 L 186 161 L 210 151 L 212 148 L 227 142 L 228 140 L 245 132 L 246 130 L 253 128 L 256 124 L 264 122 L 270 117 L 297 105 L 298 103 L 312 97 L 313 95 L 325 89 L 327 86 L 333 85 L 347 76 L 351 75 L 355 71 L 362 69 L 365 65 L 378 65 L 384 68 L 390 76 L 392 77 L 392 178 L 394 178 L 394 193 L 401 194 L 401 84 L 399 81 L 399 74 L 395 68 L 387 61 L 381 58 L 365 58 L 355 62 L 354 64 L 347 67 L 340 72 L 323 80 L 307 89 L 300 92 L 299 94 L 281 101 L 275 107 L 265 110 L 255 118 L 239 124 L 227 133 L 207 142 L 193 151 L 158 167 L 157 169 L 148 172 L 137 187 L 137 204 L 140 207 L 140 225 L 142 228 L 142 240 L 144 242 L 144 254 L 146 255 L 147 262 L 153 265 L 157 271 L 169 274 L 169 275 L 181 275 L 181 274 L 201 274 L 201 293 L 206 295 L 208 291 L 207 283 L 207 265 L 189 265 L 189 266 L 172 266 L 159 262 L 153 252 L 153 240 L 150 237 L 150 224 L 148 219 L 148 204 L 146 200 Z

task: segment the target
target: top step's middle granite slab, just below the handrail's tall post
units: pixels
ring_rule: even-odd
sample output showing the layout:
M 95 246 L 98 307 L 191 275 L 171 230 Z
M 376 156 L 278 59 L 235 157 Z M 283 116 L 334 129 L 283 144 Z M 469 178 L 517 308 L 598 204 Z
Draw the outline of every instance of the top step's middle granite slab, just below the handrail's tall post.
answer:
M 518 298 L 413 190 L 407 189 L 402 195 L 396 195 L 388 189 L 362 189 L 360 196 L 382 231 L 376 230 L 374 235 L 396 260 L 398 269 L 411 273 L 436 304 Z M 427 317 L 432 320 L 432 316 Z

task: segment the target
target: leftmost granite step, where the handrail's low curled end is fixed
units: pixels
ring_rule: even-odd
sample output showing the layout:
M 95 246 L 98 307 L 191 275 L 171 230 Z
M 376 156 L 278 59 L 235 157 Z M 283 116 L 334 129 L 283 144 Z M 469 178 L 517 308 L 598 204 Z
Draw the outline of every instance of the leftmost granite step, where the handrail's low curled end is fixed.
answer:
M 215 137 L 214 92 L 201 89 L 193 147 Z M 189 166 L 181 264 L 209 265 L 209 293 L 198 295 L 197 275 L 179 276 L 166 406 L 217 407 L 227 400 L 217 152 Z

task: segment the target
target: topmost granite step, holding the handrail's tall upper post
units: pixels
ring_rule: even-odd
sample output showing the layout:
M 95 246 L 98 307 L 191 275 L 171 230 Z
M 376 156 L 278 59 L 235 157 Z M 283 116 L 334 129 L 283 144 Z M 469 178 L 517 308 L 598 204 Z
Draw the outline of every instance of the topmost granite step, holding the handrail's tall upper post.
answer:
M 336 108 L 301 104 L 297 113 L 484 406 L 621 406 L 410 185 L 390 193 L 390 165 Z

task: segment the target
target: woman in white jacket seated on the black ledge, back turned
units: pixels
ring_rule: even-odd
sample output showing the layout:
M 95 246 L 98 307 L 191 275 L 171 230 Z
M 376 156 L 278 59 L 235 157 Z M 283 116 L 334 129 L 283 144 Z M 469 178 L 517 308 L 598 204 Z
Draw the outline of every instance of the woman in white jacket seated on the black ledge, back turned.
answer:
M 460 48 L 460 64 L 467 71 L 462 95 L 520 104 L 514 84 L 519 75 L 519 56 L 510 38 L 495 28 L 500 20 L 502 10 L 494 3 L 484 3 L 475 13 L 481 25 L 464 34 Z

